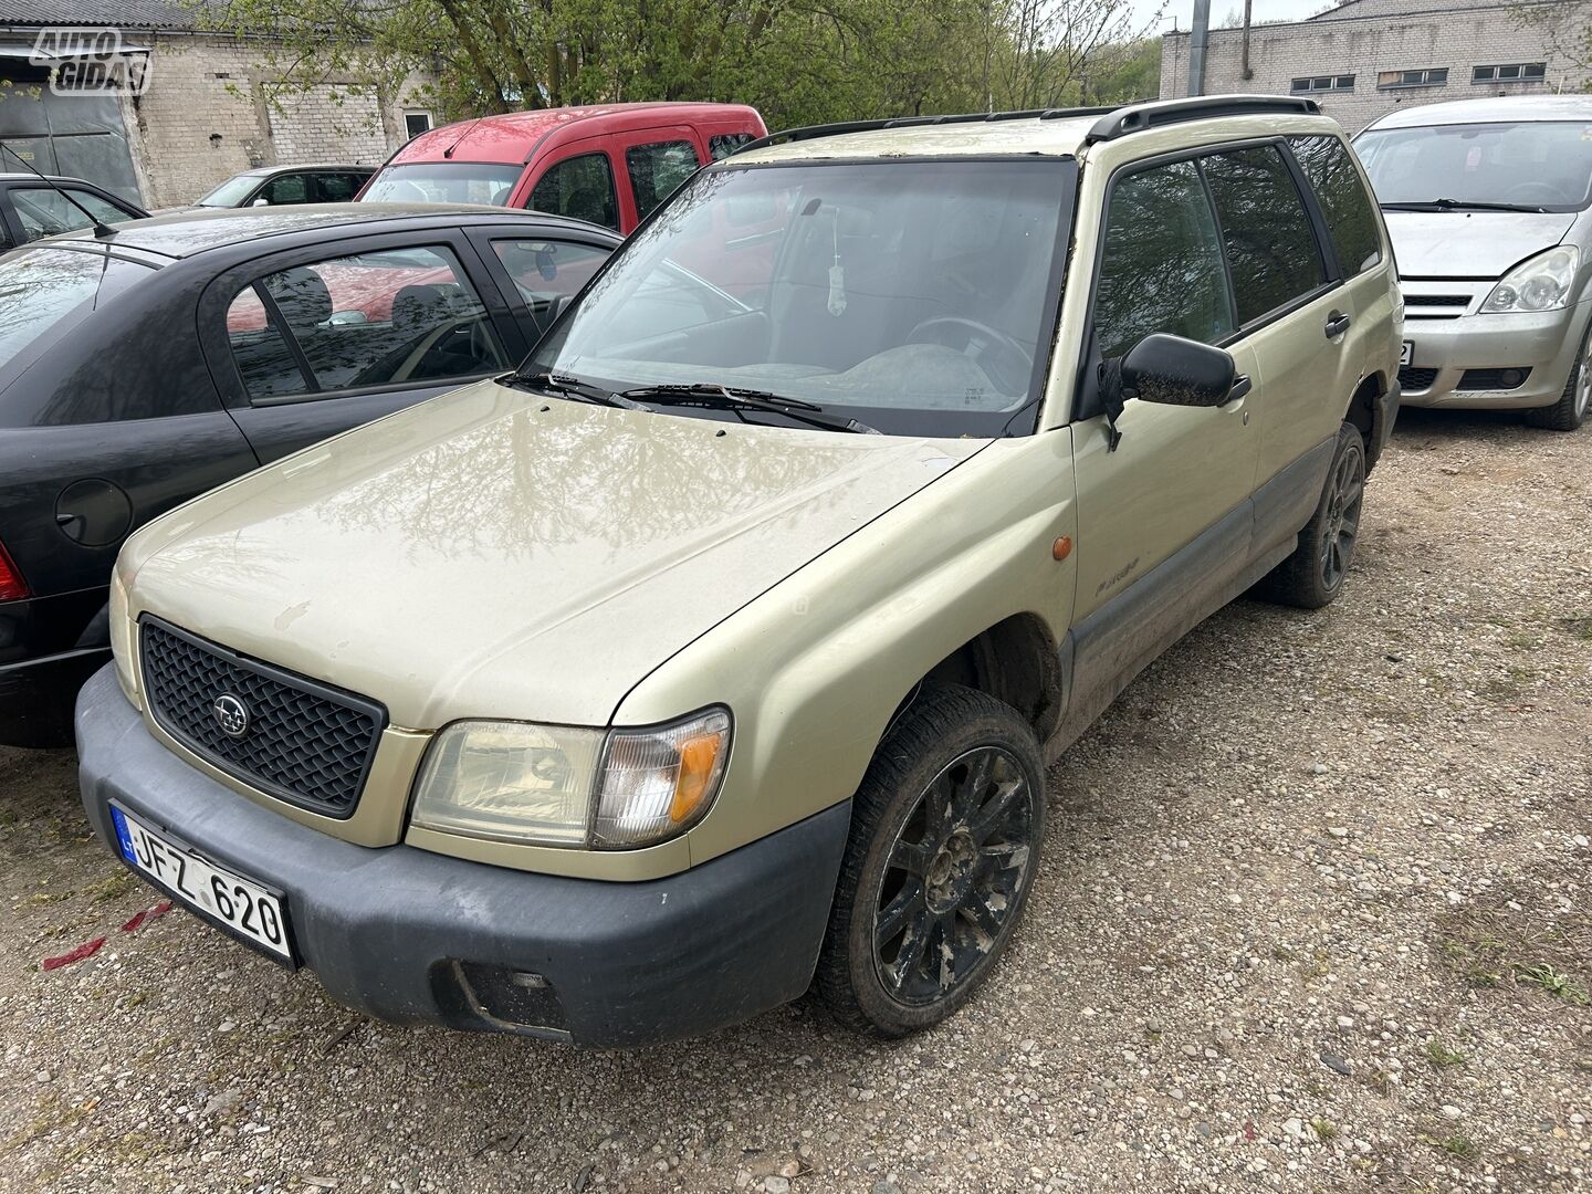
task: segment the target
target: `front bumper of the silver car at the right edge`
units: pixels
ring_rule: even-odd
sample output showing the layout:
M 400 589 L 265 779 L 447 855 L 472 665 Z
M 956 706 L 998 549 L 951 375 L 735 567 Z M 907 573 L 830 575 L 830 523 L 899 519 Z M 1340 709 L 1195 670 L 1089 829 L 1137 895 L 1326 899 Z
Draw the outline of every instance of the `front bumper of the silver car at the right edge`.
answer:
M 1474 304 L 1473 304 L 1474 306 Z M 1414 352 L 1399 369 L 1404 406 L 1489 411 L 1552 406 L 1565 392 L 1592 304 L 1562 310 L 1407 318 Z M 1466 388 L 1466 371 L 1530 369 L 1511 388 Z

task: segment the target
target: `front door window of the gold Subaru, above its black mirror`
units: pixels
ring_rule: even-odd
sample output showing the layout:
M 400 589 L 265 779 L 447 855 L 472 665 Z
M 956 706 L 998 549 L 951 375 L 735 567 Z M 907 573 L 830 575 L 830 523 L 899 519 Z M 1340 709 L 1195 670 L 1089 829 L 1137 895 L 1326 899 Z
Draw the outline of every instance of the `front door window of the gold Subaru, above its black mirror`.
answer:
M 1100 355 L 1121 357 L 1153 331 L 1215 344 L 1232 330 L 1221 234 L 1194 162 L 1118 181 L 1095 290 Z

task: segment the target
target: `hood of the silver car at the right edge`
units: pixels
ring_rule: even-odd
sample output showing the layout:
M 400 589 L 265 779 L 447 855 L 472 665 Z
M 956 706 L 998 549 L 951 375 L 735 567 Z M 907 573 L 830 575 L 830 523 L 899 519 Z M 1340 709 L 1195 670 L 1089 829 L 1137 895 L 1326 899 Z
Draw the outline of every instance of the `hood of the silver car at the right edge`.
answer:
M 1574 212 L 1383 212 L 1403 277 L 1503 277 L 1552 248 Z

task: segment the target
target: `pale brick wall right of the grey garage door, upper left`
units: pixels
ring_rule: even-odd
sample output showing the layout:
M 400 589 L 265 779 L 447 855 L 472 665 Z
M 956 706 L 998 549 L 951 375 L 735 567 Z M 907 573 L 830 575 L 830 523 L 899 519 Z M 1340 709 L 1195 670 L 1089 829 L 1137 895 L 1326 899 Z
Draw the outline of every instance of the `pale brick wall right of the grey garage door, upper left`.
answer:
M 148 89 L 124 103 L 145 207 L 188 204 L 231 175 L 295 161 L 380 162 L 404 140 L 403 103 L 425 80 L 392 97 L 352 96 L 328 84 L 279 94 L 245 38 L 131 32 L 151 46 Z

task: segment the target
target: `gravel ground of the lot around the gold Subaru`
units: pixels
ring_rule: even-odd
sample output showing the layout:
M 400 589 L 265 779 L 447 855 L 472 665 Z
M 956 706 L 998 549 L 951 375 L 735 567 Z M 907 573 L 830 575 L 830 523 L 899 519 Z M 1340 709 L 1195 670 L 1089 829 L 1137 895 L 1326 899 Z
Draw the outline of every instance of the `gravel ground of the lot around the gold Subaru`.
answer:
M 1406 412 L 1345 599 L 1146 672 L 1051 774 L 1008 960 L 890 1044 L 371 1024 L 121 933 L 70 753 L 0 750 L 0 1189 L 1592 1189 L 1589 560 L 1592 430 Z

